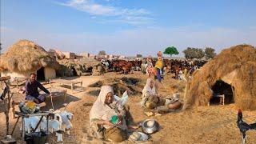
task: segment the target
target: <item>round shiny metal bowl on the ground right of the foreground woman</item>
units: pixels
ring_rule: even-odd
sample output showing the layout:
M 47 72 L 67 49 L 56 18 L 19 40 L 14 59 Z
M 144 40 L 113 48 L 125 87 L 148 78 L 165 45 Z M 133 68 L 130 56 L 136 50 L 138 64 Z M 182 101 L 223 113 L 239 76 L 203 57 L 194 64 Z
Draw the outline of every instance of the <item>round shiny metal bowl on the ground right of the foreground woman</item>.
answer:
M 154 119 L 146 119 L 142 122 L 142 130 L 146 134 L 153 134 L 154 132 L 158 131 L 159 124 Z

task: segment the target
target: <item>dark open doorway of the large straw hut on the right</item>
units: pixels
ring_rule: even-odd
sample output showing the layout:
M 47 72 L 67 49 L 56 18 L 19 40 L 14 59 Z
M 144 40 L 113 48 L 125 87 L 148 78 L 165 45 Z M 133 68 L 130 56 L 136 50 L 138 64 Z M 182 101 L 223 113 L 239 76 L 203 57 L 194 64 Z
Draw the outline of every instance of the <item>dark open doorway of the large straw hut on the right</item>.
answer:
M 210 98 L 210 105 L 216 105 L 222 103 L 222 98 L 219 95 L 225 96 L 224 102 L 225 104 L 234 103 L 234 94 L 232 87 L 230 84 L 223 82 L 222 80 L 218 80 L 215 82 L 214 86 L 212 86 L 211 90 L 213 90 L 213 95 Z

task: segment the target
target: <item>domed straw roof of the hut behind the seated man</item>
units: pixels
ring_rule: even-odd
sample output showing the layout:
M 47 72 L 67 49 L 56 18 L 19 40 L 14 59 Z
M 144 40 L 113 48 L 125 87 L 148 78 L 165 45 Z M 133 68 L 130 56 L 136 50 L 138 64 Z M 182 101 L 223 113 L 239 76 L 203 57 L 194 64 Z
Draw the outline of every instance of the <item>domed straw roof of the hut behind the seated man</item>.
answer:
M 29 40 L 20 40 L 10 46 L 0 57 L 0 70 L 24 73 L 36 71 L 43 67 L 58 69 L 58 62 L 50 54 Z

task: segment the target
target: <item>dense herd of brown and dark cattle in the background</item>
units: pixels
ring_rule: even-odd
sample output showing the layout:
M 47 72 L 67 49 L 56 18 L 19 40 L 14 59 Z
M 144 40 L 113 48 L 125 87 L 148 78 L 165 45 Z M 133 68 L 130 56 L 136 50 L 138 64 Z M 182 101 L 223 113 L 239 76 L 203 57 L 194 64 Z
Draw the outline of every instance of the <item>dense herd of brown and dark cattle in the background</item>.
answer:
M 178 74 L 183 70 L 188 70 L 190 74 L 194 72 L 194 70 L 202 67 L 207 61 L 203 60 L 177 60 L 177 59 L 164 59 L 165 68 L 164 71 L 166 74 L 172 73 L 175 74 L 175 78 L 178 78 Z M 143 60 L 105 60 L 102 59 L 102 66 L 105 72 L 115 71 L 123 74 L 132 73 L 133 71 L 142 71 L 145 73 L 146 70 L 146 59 Z M 152 60 L 153 66 L 157 62 L 157 59 Z

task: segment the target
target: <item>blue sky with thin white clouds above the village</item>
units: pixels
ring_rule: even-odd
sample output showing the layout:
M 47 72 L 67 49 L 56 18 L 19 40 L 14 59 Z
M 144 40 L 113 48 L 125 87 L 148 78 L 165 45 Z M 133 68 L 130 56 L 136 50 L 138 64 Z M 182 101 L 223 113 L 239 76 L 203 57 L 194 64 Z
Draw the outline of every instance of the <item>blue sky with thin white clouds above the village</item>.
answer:
M 19 39 L 46 50 L 126 56 L 168 46 L 256 46 L 255 0 L 0 0 L 2 52 Z M 167 56 L 167 55 L 166 55 Z

